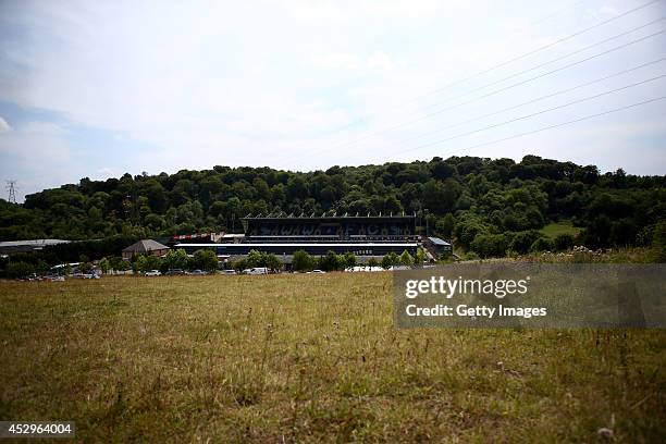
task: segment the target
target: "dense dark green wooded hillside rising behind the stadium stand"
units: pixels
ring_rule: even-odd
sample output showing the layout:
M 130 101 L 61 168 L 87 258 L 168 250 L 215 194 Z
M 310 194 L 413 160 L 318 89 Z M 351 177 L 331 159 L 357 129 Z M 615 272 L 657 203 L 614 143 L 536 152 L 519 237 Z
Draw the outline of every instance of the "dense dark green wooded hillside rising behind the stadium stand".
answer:
M 566 247 L 650 245 L 666 219 L 666 177 L 601 174 L 527 156 L 332 166 L 308 173 L 214 166 L 124 174 L 0 201 L 0 239 L 139 238 L 197 231 L 240 232 L 247 214 L 416 213 L 430 234 L 480 256 Z M 543 238 L 548 222 L 583 227 L 577 239 Z M 424 231 L 424 229 L 423 229 Z M 557 245 L 556 245 L 557 244 Z

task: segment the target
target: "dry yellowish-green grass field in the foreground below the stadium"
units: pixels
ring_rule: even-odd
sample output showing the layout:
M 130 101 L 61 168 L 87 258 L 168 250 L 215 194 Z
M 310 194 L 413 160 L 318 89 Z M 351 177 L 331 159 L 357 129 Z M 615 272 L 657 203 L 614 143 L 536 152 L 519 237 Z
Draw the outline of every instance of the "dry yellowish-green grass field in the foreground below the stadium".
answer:
M 391 288 L 0 282 L 0 419 L 85 442 L 664 442 L 666 332 L 399 331 Z

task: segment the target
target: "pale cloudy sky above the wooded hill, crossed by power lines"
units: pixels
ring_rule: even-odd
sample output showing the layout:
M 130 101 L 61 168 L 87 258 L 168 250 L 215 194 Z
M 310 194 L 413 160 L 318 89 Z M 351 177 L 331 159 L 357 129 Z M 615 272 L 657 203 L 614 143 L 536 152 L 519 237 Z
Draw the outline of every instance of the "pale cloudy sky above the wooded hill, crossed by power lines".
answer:
M 435 156 L 665 174 L 665 17 L 666 0 L 0 0 L 0 180 L 22 201 L 125 172 Z

